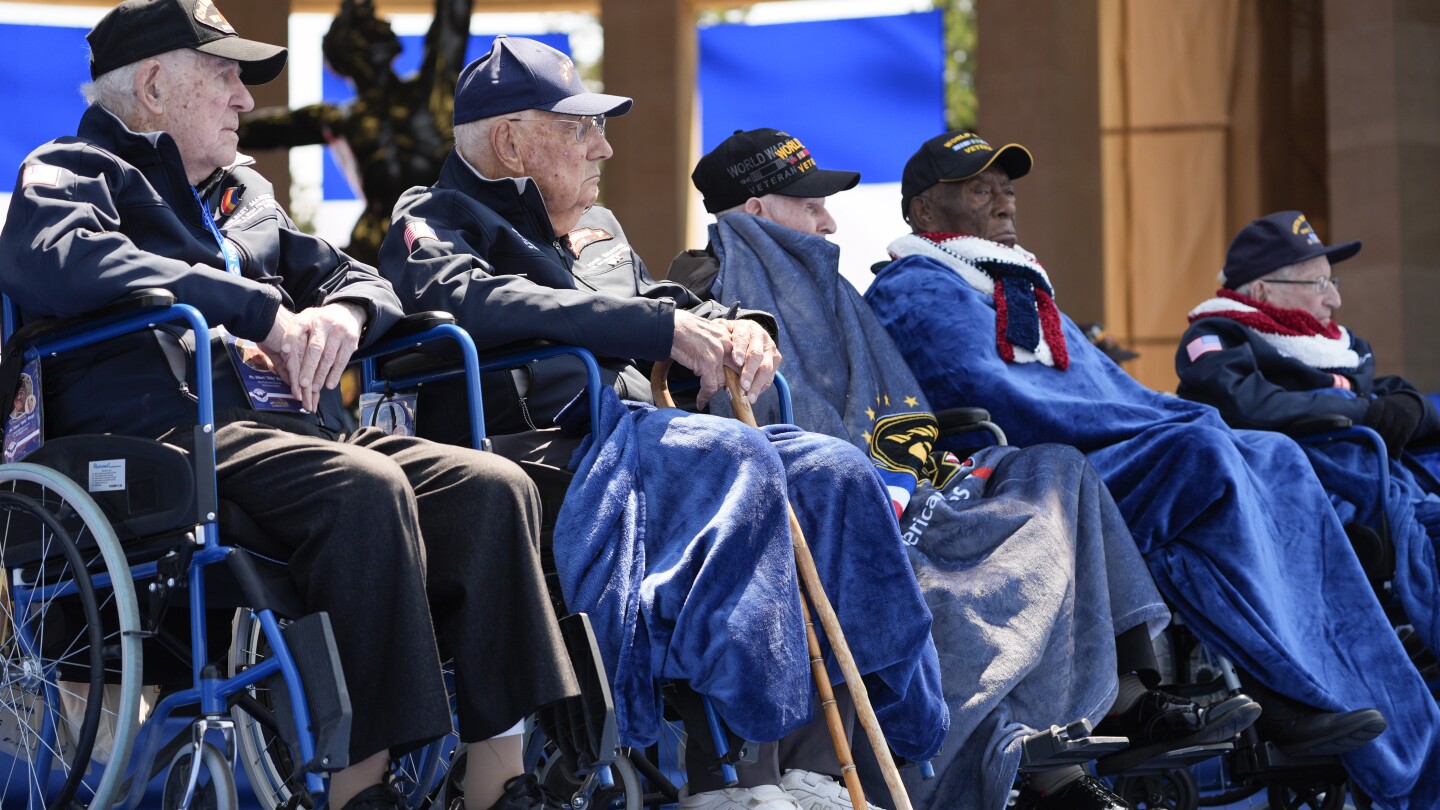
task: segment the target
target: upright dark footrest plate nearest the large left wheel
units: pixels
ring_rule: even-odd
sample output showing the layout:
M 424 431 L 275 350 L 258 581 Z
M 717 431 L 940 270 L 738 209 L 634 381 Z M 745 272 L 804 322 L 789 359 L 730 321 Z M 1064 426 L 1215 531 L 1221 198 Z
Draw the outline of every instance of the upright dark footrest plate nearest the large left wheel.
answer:
M 285 646 L 295 659 L 300 680 L 305 687 L 310 732 L 315 739 L 315 758 L 305 762 L 305 770 L 338 771 L 350 764 L 350 692 L 340 669 L 340 653 L 336 650 L 336 636 L 330 628 L 330 614 L 312 613 L 298 618 L 285 627 L 284 634 Z M 269 680 L 282 734 L 285 739 L 295 741 L 298 736 L 289 690 L 285 689 L 279 675 Z M 300 751 L 298 745 L 295 751 Z

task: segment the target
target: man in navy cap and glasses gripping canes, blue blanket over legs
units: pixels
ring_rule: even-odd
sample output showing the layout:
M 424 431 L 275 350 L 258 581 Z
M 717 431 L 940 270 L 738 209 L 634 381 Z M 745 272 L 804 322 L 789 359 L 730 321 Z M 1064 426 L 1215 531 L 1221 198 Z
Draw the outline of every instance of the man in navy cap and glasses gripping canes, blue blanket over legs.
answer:
M 683 807 L 851 807 L 857 797 L 832 778 L 842 768 L 824 751 L 824 726 L 806 722 L 819 687 L 806 675 L 786 497 L 890 747 L 913 760 L 940 747 L 948 722 L 930 613 L 884 486 L 858 450 L 615 395 L 649 401 L 639 363 L 674 359 L 700 378 L 700 405 L 726 368 L 753 401 L 779 362 L 766 329 L 773 320 L 762 313 L 703 304 L 680 285 L 625 271 L 608 280 L 572 272 L 575 244 L 564 235 L 595 202 L 599 163 L 611 156 L 605 117 L 629 107 L 588 92 L 563 53 L 497 39 L 461 74 L 456 148 L 435 186 L 400 197 L 380 268 L 409 310 L 454 313 L 482 349 L 549 339 L 600 357 L 613 391 L 603 392 L 598 422 L 567 421 L 576 409 L 562 408 L 586 383 L 556 360 L 487 378 L 485 411 L 491 431 L 523 431 L 497 450 L 573 473 L 562 483 L 556 566 L 567 607 L 595 626 L 622 742 L 651 744 L 662 719 L 658 680 L 684 680 L 730 731 L 765 745 L 727 785 L 713 773 L 723 751 L 706 745 L 701 700 L 681 699 L 691 765 Z M 446 401 L 442 389 L 422 389 L 420 435 L 461 438 Z M 845 680 L 864 716 L 863 685 Z M 811 755 L 816 749 L 828 757 Z

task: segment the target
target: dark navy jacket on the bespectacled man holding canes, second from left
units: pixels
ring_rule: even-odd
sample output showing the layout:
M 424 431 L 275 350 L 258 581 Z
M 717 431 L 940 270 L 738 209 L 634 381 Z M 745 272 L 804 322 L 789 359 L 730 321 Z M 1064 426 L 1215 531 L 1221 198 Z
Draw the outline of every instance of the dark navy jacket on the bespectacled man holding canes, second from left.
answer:
M 528 177 L 481 177 L 452 151 L 435 186 L 410 189 L 396 203 L 380 271 L 408 311 L 454 313 L 482 350 L 533 339 L 583 346 L 600 359 L 606 385 L 622 398 L 649 401 L 649 383 L 635 363 L 670 356 L 675 307 L 701 317 L 719 317 L 724 308 L 651 280 L 609 212 L 588 212 L 579 229 L 589 226 L 606 236 L 580 252 L 613 251 L 611 271 L 589 262 L 576 270 L 567 236 L 554 233 Z M 487 375 L 488 431 L 547 427 L 583 386 L 580 365 L 569 357 L 517 375 Z M 461 402 L 452 386 L 431 386 L 420 431 L 459 441 Z

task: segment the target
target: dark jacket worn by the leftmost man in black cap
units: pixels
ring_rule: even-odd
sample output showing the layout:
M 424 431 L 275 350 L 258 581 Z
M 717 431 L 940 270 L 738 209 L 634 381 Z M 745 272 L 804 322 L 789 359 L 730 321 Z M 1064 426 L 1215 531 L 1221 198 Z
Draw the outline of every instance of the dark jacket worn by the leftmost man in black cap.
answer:
M 265 339 L 281 306 L 364 304 L 367 337 L 400 316 L 393 291 L 372 268 L 297 231 L 253 170 L 222 170 L 203 186 L 240 254 L 240 275 L 225 268 L 174 140 L 134 133 L 92 107 L 76 137 L 50 141 L 26 159 L 0 233 L 0 290 L 30 321 L 91 313 L 132 290 L 166 288 L 212 327 L 251 340 Z M 235 193 L 226 215 L 219 199 L 228 189 Z M 46 431 L 156 437 L 193 422 L 193 379 L 179 378 L 190 372 L 180 372 L 161 349 L 190 350 L 177 331 L 157 329 L 46 362 Z M 219 340 L 212 340 L 212 353 L 216 411 L 248 406 Z M 323 398 L 321 415 L 338 425 L 336 392 Z

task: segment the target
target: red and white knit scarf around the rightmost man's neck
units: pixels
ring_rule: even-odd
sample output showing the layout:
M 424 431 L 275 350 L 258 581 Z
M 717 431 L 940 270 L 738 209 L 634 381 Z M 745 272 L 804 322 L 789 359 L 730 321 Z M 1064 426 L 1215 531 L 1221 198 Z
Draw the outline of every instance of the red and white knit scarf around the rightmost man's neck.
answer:
M 1207 317 L 1228 319 L 1248 327 L 1276 352 L 1316 369 L 1355 369 L 1361 362 L 1344 326 L 1335 321 L 1322 326 L 1305 310 L 1276 307 L 1234 290 L 1220 290 L 1214 298 L 1189 311 L 1189 323 Z

